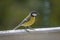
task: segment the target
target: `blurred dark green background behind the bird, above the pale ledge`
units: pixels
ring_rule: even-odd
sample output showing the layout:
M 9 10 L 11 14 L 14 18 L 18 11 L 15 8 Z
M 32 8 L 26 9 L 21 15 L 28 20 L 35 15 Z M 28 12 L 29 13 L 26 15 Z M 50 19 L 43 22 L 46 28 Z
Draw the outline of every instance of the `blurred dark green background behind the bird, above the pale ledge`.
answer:
M 33 28 L 60 26 L 60 0 L 0 0 L 0 30 L 13 29 L 33 10 L 40 14 Z

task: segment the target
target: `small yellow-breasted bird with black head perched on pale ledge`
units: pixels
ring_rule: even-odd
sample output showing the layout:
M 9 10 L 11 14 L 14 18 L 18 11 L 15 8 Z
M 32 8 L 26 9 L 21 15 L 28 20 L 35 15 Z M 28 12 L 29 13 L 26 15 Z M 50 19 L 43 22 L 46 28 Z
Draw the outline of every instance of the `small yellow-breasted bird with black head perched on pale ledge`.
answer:
M 25 28 L 31 28 L 31 25 L 33 25 L 35 23 L 35 18 L 37 16 L 37 12 L 36 11 L 32 11 L 31 13 L 29 13 L 29 15 L 19 24 L 17 25 L 13 30 L 16 30 L 17 28 L 23 26 Z

